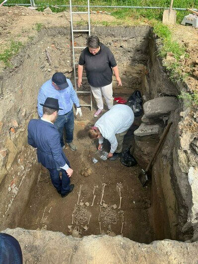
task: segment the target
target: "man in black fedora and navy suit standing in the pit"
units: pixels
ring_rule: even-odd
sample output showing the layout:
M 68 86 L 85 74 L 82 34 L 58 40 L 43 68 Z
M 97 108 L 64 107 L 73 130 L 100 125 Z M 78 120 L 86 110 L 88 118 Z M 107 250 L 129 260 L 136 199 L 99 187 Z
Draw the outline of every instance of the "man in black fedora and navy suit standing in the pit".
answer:
M 73 170 L 60 143 L 60 134 L 54 125 L 59 108 L 58 99 L 48 97 L 43 106 L 41 119 L 31 119 L 28 124 L 28 144 L 37 148 L 38 162 L 50 172 L 52 184 L 62 197 L 66 197 L 72 190 L 70 176 Z M 60 172 L 62 178 L 60 178 Z

